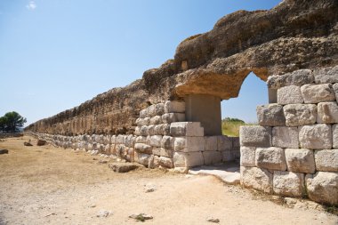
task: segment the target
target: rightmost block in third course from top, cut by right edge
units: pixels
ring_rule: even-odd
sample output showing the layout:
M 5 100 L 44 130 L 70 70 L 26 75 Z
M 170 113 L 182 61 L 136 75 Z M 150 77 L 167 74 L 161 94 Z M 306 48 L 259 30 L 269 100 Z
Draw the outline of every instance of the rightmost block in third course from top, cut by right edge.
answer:
M 338 123 L 338 105 L 333 102 L 318 103 L 318 124 L 336 124 Z

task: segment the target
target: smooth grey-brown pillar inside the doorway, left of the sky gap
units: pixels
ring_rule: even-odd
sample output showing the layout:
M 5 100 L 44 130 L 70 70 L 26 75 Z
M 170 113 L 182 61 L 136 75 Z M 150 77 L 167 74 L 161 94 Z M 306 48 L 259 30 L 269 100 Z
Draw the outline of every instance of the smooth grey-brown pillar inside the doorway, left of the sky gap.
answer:
M 186 96 L 186 119 L 200 122 L 205 136 L 221 135 L 221 99 L 208 94 Z

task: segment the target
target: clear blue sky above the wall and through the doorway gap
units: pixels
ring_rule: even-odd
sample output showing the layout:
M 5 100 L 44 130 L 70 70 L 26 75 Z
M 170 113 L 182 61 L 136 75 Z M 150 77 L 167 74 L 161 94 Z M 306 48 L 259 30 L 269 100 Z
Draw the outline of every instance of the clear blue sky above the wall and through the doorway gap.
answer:
M 30 124 L 76 107 L 172 59 L 222 16 L 279 2 L 1 0 L 0 116 L 15 110 Z M 266 85 L 249 76 L 237 99 L 222 101 L 222 117 L 253 122 L 267 101 Z

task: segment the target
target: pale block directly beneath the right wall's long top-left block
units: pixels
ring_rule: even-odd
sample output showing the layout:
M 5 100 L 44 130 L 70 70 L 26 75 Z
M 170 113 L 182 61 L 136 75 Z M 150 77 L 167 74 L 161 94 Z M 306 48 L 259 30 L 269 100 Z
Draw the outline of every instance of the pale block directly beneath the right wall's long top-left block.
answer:
M 281 105 L 286 104 L 302 104 L 301 87 L 296 85 L 285 86 L 278 89 L 277 102 Z

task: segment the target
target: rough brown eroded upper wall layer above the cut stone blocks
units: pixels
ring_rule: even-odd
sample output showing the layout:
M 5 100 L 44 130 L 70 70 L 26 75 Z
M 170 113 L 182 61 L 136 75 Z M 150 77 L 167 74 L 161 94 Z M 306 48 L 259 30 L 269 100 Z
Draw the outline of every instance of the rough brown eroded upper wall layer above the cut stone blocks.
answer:
M 270 11 L 231 13 L 179 44 L 173 60 L 141 80 L 29 125 L 39 133 L 133 133 L 148 103 L 203 93 L 237 97 L 251 72 L 266 80 L 338 63 L 338 1 L 285 0 Z

